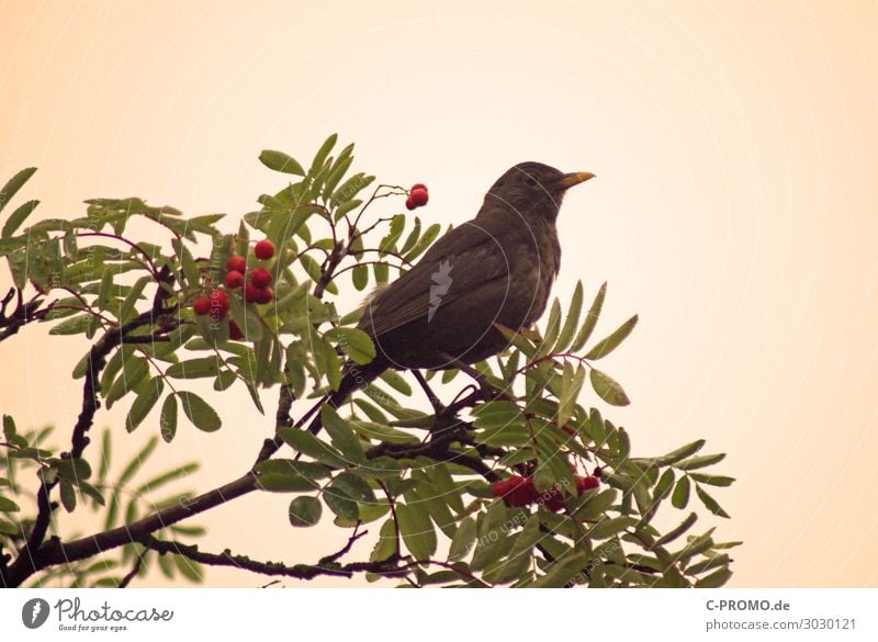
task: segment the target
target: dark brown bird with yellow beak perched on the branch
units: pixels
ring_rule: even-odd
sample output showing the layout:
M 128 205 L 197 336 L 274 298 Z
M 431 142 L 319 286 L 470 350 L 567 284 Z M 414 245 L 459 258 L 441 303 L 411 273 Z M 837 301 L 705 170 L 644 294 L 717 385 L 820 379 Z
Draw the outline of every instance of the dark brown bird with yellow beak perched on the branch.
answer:
M 336 391 L 338 407 L 386 369 L 443 370 L 502 352 L 513 331 L 543 314 L 561 267 L 555 222 L 566 191 L 595 174 L 564 173 L 526 161 L 503 173 L 475 218 L 440 237 L 398 279 L 367 302 L 359 329 L 375 357 L 346 364 Z M 319 430 L 319 416 L 309 430 Z

